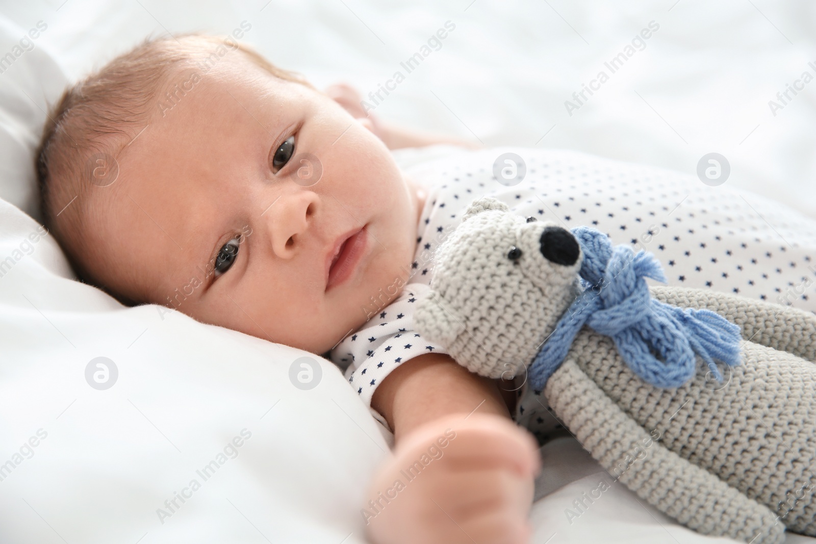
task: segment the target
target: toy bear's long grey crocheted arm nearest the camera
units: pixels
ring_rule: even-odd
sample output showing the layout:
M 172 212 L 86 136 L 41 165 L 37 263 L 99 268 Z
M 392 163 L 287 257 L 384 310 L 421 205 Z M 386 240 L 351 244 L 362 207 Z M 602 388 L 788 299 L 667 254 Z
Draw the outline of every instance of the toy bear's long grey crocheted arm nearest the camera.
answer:
M 564 361 L 544 394 L 610 475 L 681 524 L 752 544 L 784 542 L 772 511 L 653 440 L 574 360 Z

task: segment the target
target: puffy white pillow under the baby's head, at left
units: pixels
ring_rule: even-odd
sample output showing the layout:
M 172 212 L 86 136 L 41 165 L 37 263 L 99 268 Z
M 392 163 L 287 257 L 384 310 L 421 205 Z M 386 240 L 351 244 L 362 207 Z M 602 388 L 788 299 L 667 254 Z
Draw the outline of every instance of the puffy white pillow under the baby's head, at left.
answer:
M 26 33 L 0 17 L 0 51 Z M 65 84 L 33 43 L 0 75 L 0 542 L 362 542 L 388 445 L 335 365 L 123 307 L 74 281 L 29 217 L 46 100 Z M 310 390 L 290 378 L 303 356 Z

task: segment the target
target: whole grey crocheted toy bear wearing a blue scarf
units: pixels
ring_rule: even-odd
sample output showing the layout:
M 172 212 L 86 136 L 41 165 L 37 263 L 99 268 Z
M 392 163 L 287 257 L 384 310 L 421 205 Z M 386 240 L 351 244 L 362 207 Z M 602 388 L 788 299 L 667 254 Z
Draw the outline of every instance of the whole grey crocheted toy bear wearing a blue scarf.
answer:
M 522 400 L 543 391 L 638 496 L 703 534 L 816 536 L 816 316 L 650 288 L 665 281 L 651 254 L 491 197 L 433 261 L 417 332 L 474 373 L 523 379 Z

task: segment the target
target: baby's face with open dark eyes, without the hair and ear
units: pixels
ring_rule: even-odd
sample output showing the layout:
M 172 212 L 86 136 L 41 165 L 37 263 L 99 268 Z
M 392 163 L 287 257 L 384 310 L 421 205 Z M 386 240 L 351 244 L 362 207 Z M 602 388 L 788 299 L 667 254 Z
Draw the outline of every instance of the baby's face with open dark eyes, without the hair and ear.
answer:
M 326 352 L 366 321 L 372 295 L 405 283 L 415 189 L 326 95 L 220 62 L 175 105 L 160 99 L 118 180 L 95 188 L 112 189 L 89 211 L 96 266 L 131 299 Z M 299 177 L 305 153 L 313 170 Z

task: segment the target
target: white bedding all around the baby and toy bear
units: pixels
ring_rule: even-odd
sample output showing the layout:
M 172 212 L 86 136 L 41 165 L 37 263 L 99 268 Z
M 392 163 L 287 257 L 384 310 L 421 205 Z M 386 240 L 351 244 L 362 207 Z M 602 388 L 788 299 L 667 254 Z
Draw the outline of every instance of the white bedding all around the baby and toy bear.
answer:
M 766 104 L 807 66 L 801 51 L 813 51 L 812 4 L 672 4 L 55 0 L 7 2 L 2 11 L 22 31 L 46 22 L 37 48 L 69 77 L 147 33 L 227 33 L 247 20 L 246 40 L 274 62 L 318 85 L 344 79 L 364 93 L 451 20 L 457 28 L 441 50 L 377 113 L 486 144 L 575 148 L 689 172 L 703 153 L 718 151 L 732 162 L 729 183 L 814 215 L 812 94 L 777 117 Z M 654 40 L 569 117 L 563 101 L 650 20 L 661 24 Z M 29 109 L 13 122 L 42 122 L 38 108 L 62 82 L 50 70 L 29 104 L 16 93 Z M 0 89 L 5 101 L 7 87 Z M 5 128 L 9 122 L 3 118 Z M 4 153 L 20 153 L 20 164 L 4 161 L 0 181 L 3 197 L 33 213 L 30 172 L 6 179 L 36 141 L 22 128 L 11 140 L 19 151 Z M 36 227 L 0 203 L 2 257 Z M 124 309 L 68 277 L 64 257 L 44 238 L 0 279 L 0 463 L 39 428 L 48 432 L 0 481 L 0 542 L 361 542 L 357 504 L 387 447 L 334 367 L 322 366 L 321 387 L 296 391 L 286 373 L 302 352 L 155 307 Z M 91 389 L 82 374 L 100 355 L 121 363 L 118 387 L 108 391 Z M 259 431 L 225 463 L 224 478 L 158 523 L 162 502 L 245 427 Z M 575 466 L 574 455 L 551 453 L 552 466 Z M 534 505 L 534 542 L 712 542 L 638 505 L 622 487 L 580 523 L 564 525 L 565 504 L 593 477 Z

